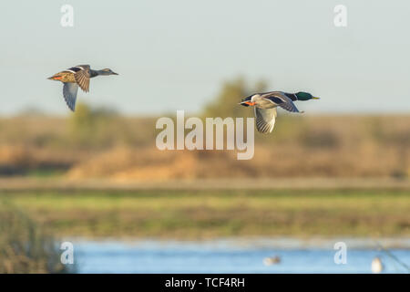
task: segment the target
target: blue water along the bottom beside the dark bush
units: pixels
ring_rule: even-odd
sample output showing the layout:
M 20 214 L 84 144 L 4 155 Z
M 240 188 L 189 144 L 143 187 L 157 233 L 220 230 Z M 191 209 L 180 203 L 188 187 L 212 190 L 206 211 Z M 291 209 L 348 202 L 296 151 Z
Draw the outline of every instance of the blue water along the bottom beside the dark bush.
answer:
M 376 246 L 347 244 L 347 263 L 336 265 L 335 241 L 85 241 L 72 240 L 79 273 L 371 273 L 379 256 L 384 273 L 406 273 Z M 279 242 L 279 244 L 278 244 Z M 409 266 L 410 249 L 389 248 Z M 263 259 L 280 256 L 281 263 L 265 266 Z

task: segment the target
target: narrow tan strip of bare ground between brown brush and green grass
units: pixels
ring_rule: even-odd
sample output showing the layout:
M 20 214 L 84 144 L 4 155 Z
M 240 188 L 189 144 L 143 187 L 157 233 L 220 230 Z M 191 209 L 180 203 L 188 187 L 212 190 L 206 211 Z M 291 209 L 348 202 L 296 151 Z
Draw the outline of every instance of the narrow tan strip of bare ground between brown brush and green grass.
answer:
M 140 191 L 140 190 L 410 190 L 403 178 L 235 178 L 169 181 L 124 181 L 112 179 L 74 180 L 65 177 L 0 177 L 0 191 Z

